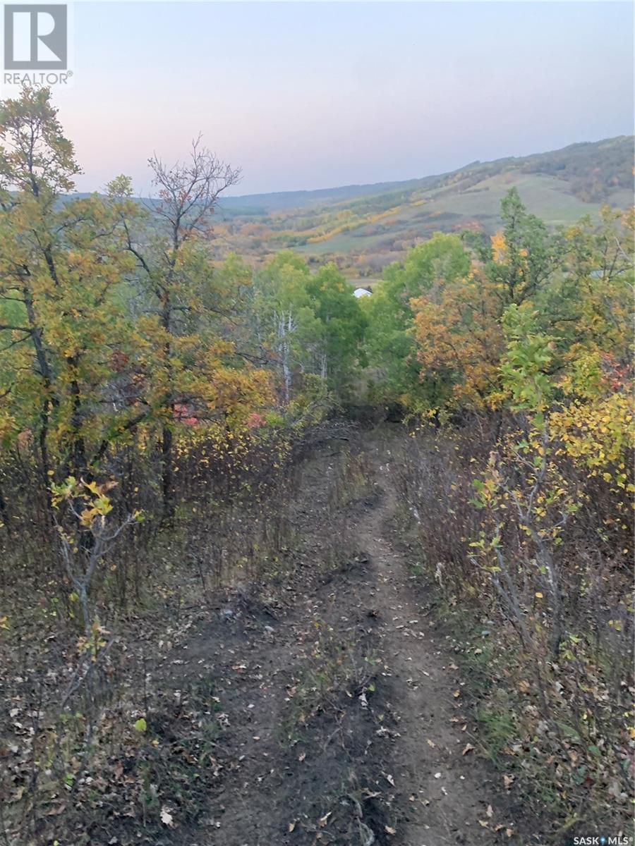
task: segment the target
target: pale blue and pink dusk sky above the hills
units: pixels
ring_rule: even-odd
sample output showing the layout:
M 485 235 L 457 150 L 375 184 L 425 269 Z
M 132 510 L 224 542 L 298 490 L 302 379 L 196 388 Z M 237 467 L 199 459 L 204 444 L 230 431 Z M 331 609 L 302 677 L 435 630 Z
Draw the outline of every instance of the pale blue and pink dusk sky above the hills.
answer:
M 76 2 L 54 99 L 84 168 L 207 146 L 234 194 L 412 179 L 633 131 L 631 3 Z

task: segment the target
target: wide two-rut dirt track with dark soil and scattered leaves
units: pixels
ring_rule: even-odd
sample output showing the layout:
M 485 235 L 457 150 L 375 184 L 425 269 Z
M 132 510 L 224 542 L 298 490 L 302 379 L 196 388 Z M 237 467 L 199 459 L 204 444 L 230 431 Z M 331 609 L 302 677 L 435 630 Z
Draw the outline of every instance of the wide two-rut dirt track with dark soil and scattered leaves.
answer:
M 510 843 L 450 642 L 391 542 L 388 453 L 365 451 L 376 484 L 338 525 L 324 525 L 338 459 L 310 463 L 294 517 L 308 540 L 278 598 L 230 596 L 168 660 L 174 688 L 218 697 L 218 788 L 157 846 Z M 324 531 L 344 566 L 323 569 Z

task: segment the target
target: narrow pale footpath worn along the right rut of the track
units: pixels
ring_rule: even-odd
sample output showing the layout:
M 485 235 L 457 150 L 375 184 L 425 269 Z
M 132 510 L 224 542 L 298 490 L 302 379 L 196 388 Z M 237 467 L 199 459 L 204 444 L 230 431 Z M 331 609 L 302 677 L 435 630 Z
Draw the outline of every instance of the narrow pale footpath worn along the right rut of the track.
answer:
M 492 843 L 494 828 L 501 823 L 495 811 L 500 790 L 472 750 L 463 754 L 468 744 L 472 746 L 470 721 L 450 646 L 428 618 L 425 597 L 417 590 L 420 577 L 411 574 L 389 540 L 396 499 L 390 465 L 381 463 L 387 457 L 376 458 L 383 496 L 363 516 L 358 533 L 376 576 L 378 636 L 392 670 L 389 681 L 400 734 L 392 775 L 404 821 L 395 843 Z

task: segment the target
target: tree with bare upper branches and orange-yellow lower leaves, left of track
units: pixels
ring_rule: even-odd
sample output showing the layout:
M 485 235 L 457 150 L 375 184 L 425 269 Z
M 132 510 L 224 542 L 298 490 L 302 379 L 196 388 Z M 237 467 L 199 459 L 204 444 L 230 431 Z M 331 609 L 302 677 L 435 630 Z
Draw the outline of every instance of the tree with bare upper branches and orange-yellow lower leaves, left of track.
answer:
M 124 247 L 134 257 L 138 293 L 139 420 L 160 421 L 161 488 L 166 518 L 174 514 L 174 430 L 187 410 L 199 421 L 247 413 L 268 394 L 268 378 L 237 354 L 225 331 L 235 311 L 231 274 L 213 270 L 211 222 L 218 196 L 240 171 L 220 162 L 200 137 L 187 162 L 149 159 L 157 199 L 145 213 L 130 183 L 109 187 L 119 198 Z M 252 410 L 252 409 L 250 409 Z

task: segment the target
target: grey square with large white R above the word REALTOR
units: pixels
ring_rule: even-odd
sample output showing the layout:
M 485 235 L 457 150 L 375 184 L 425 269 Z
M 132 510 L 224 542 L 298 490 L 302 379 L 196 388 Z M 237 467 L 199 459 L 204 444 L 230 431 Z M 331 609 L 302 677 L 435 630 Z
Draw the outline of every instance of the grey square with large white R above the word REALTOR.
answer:
M 66 70 L 66 5 L 14 3 L 4 7 L 4 69 Z

